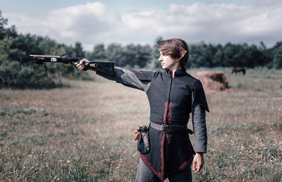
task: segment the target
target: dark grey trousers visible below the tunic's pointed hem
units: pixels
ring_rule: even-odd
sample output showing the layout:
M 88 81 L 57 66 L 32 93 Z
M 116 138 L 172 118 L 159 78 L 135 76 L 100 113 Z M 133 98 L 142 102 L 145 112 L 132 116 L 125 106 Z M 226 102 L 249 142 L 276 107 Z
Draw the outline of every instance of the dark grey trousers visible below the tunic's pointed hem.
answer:
M 192 182 L 191 163 L 185 169 L 168 176 L 168 180 L 170 182 Z M 161 182 L 161 180 L 140 158 L 135 182 Z

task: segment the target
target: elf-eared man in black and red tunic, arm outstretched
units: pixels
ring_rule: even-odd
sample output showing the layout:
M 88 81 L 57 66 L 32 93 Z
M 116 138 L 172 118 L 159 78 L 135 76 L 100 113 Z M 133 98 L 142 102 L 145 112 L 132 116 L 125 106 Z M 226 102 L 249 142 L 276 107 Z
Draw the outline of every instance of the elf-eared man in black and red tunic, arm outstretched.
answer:
M 99 71 L 97 74 L 147 93 L 150 123 L 146 132 L 150 148 L 140 152 L 135 181 L 192 181 L 191 164 L 195 173 L 199 172 L 207 152 L 207 100 L 201 82 L 186 72 L 189 50 L 185 41 L 161 41 L 158 49 L 163 72 L 115 67 L 114 76 Z M 83 70 L 87 61 L 83 59 L 75 65 Z M 187 129 L 191 112 L 196 153 Z

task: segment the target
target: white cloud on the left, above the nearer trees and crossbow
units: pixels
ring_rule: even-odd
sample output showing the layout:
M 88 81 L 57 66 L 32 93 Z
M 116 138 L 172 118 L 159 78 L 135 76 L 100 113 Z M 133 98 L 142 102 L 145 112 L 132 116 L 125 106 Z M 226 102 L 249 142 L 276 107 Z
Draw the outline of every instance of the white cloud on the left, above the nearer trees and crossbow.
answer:
M 104 34 L 122 24 L 121 15 L 99 2 L 60 8 L 42 14 L 4 14 L 9 25 L 19 32 L 49 36 L 58 42 L 74 44 L 81 41 L 87 49 L 102 43 Z M 107 42 L 111 42 L 107 40 Z

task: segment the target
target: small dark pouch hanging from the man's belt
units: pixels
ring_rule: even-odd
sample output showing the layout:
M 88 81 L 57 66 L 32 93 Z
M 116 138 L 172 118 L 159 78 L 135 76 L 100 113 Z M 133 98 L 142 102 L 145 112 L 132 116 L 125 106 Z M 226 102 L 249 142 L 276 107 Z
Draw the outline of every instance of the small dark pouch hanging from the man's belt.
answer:
M 135 138 L 135 141 L 137 141 L 137 151 L 141 152 L 142 154 L 145 154 L 149 152 L 150 150 L 150 143 L 149 143 L 149 129 L 146 125 L 141 125 L 139 129 L 137 129 L 137 132 L 135 134 L 137 137 Z

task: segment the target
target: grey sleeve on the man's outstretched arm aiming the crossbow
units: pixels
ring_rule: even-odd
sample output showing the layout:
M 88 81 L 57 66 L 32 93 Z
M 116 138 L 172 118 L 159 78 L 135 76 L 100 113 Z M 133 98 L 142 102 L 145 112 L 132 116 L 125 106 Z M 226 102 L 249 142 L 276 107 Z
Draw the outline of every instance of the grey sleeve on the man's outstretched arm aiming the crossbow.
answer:
M 130 70 L 123 69 L 121 67 L 114 67 L 114 76 L 110 76 L 108 74 L 102 74 L 101 72 L 97 72 L 100 76 L 114 80 L 118 83 L 121 83 L 125 86 L 129 86 L 135 89 L 140 89 L 142 91 L 147 91 L 151 82 L 141 81 L 136 77 L 136 75 Z

